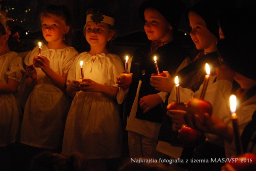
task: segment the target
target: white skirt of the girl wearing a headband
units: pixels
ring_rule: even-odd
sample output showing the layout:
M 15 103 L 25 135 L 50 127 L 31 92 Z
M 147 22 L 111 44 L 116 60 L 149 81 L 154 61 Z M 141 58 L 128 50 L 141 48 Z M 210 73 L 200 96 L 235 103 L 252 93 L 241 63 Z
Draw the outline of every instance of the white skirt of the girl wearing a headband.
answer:
M 65 126 L 62 153 L 80 152 L 88 159 L 110 159 L 122 153 L 121 121 L 116 103 L 93 92 L 77 92 Z

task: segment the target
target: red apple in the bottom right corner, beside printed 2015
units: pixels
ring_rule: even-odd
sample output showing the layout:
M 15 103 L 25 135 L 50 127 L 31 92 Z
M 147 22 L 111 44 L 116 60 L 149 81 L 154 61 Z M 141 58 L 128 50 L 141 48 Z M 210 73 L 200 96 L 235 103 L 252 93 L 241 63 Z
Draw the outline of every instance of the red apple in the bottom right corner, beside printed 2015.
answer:
M 232 157 L 227 163 L 237 171 L 256 171 L 256 156 L 252 153 Z

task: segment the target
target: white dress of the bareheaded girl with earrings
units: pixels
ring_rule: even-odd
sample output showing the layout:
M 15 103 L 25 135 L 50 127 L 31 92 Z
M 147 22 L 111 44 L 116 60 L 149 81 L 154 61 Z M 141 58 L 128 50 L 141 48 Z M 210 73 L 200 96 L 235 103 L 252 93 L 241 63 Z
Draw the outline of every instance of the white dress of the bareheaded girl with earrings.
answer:
M 59 75 L 68 70 L 78 52 L 73 47 L 48 49 L 42 46 L 41 54 L 50 61 L 50 67 Z M 33 64 L 38 46 L 25 57 L 26 65 Z M 52 80 L 36 68 L 37 82 L 28 97 L 21 124 L 20 142 L 34 147 L 56 149 L 61 146 L 70 98 Z

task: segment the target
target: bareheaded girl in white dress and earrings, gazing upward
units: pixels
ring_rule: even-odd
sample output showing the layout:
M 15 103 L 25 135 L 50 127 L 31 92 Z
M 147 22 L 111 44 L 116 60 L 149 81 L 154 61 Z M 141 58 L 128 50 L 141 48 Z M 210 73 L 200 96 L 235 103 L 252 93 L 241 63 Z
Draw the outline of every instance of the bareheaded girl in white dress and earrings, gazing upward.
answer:
M 67 44 L 72 30 L 66 6 L 48 6 L 41 14 L 41 22 L 47 44 L 42 45 L 41 55 L 37 46 L 24 59 L 29 76 L 27 84 L 34 89 L 25 106 L 20 143 L 28 145 L 25 148 L 31 150 L 32 156 L 43 149 L 60 152 L 70 106 L 65 94 L 66 79 L 77 55 Z

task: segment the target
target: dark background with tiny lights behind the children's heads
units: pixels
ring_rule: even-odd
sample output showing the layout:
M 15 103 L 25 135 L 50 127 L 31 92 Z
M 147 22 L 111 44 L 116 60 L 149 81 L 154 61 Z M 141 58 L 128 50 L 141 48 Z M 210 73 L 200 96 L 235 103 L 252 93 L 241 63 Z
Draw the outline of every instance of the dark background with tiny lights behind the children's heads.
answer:
M 132 56 L 133 51 L 140 45 L 147 43 L 148 39 L 143 29 L 143 21 L 139 17 L 140 4 L 146 0 L 0 0 L 2 11 L 7 9 L 7 17 L 12 18 L 13 33 L 18 32 L 21 42 L 15 38 L 10 38 L 9 44 L 12 51 L 24 52 L 33 49 L 40 40 L 43 40 L 39 14 L 50 4 L 68 6 L 72 18 L 73 28 L 76 35 L 74 47 L 78 52 L 89 51 L 89 44 L 83 36 L 83 27 L 86 22 L 86 11 L 89 8 L 107 8 L 113 15 L 118 37 L 112 42 L 113 53 L 124 56 Z M 182 0 L 186 7 L 196 4 L 200 0 Z M 209 0 L 210 1 L 210 0 Z M 253 0 L 252 0 L 253 1 Z M 237 6 L 249 0 L 235 0 Z M 194 44 L 190 40 L 189 27 L 183 16 L 179 26 L 179 37 L 189 50 L 195 50 Z M 12 33 L 12 34 L 13 34 Z M 26 33 L 28 33 L 26 35 Z M 184 34 L 187 35 L 184 35 Z M 124 59 L 123 59 L 124 60 Z

